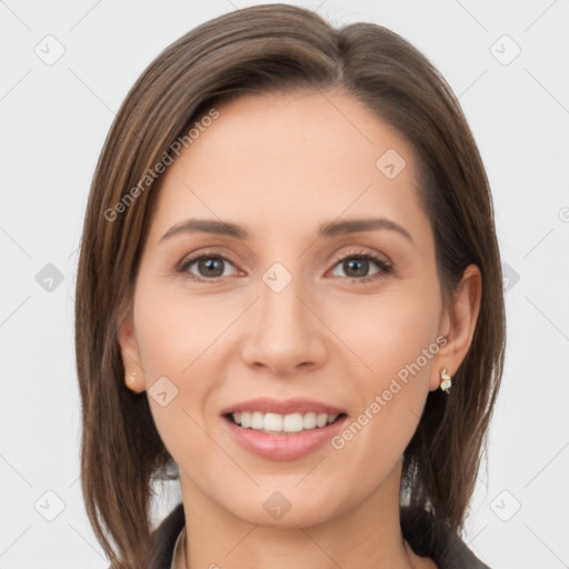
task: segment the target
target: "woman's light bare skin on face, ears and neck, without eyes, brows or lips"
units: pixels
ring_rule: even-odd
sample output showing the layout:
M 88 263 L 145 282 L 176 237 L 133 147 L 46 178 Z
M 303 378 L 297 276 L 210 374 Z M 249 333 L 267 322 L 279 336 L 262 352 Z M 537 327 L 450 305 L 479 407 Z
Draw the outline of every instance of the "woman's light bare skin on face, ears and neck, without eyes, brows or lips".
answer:
M 401 536 L 401 455 L 441 368 L 452 376 L 468 351 L 479 270 L 467 269 L 445 311 L 412 148 L 358 101 L 296 91 L 218 110 L 164 174 L 120 330 L 128 387 L 143 393 L 166 376 L 178 389 L 166 407 L 149 402 L 180 467 L 188 567 L 435 568 Z M 388 149 L 407 161 L 395 179 L 376 167 Z M 412 242 L 389 229 L 317 238 L 322 222 L 370 217 L 397 222 Z M 188 218 L 231 221 L 250 237 L 160 240 Z M 177 272 L 211 250 L 230 258 L 222 277 L 198 262 Z M 361 251 L 392 272 L 369 261 L 362 273 L 376 279 L 355 282 L 362 273 L 336 256 Z M 262 280 L 274 262 L 292 277 L 278 293 Z M 223 407 L 261 396 L 317 399 L 355 419 L 441 336 L 447 343 L 340 450 L 268 460 L 222 423 Z M 263 508 L 274 491 L 291 505 L 279 520 Z

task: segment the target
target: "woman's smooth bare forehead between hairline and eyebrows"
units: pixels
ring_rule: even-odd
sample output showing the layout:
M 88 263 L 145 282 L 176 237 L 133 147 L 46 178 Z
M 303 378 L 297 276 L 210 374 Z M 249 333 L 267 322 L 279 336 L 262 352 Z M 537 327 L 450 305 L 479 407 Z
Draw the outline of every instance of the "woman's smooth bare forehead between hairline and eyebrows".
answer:
M 425 226 L 412 148 L 355 99 L 279 92 L 216 110 L 162 174 L 154 238 L 187 217 L 289 232 L 370 212 Z

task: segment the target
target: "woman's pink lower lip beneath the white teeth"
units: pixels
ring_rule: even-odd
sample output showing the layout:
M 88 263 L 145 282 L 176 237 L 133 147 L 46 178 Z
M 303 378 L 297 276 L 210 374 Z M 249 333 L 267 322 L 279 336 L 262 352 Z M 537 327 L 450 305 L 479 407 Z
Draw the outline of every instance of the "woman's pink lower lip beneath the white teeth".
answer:
M 237 442 L 246 450 L 269 460 L 295 460 L 310 455 L 323 446 L 341 429 L 347 417 L 316 429 L 291 435 L 269 435 L 254 429 L 239 427 L 226 417 L 223 422 Z

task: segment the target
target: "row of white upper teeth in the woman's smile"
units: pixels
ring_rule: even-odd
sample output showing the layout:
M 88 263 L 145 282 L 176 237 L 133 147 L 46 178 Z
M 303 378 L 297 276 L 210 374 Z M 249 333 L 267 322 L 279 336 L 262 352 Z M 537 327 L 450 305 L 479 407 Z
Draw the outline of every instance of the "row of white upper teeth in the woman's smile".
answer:
M 260 411 L 242 411 L 231 415 L 237 425 L 246 429 L 262 430 L 266 432 L 301 432 L 326 427 L 338 418 L 338 415 L 328 413 L 262 413 Z

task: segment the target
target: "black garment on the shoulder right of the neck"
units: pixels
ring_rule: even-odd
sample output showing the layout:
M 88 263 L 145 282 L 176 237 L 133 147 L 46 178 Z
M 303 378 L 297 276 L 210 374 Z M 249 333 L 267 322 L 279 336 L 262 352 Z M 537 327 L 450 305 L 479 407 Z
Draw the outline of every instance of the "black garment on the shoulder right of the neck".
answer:
M 412 550 L 438 569 L 490 569 L 441 519 L 421 508 L 401 508 L 401 531 Z

